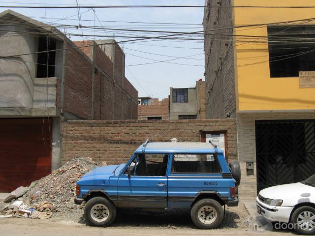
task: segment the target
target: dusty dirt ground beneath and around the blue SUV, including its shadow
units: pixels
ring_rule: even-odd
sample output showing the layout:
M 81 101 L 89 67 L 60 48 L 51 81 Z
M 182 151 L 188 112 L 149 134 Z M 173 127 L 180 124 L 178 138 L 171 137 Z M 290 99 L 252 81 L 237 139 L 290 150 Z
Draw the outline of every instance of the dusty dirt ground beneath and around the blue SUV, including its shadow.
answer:
M 111 227 L 86 226 L 83 210 L 72 215 L 54 215 L 47 220 L 28 218 L 0 219 L 0 236 L 67 235 L 67 236 L 190 236 L 190 235 L 291 235 L 294 232 L 253 230 L 254 220 L 243 204 L 226 209 L 225 219 L 216 230 L 198 230 L 190 219 L 189 210 L 168 210 L 163 212 L 142 212 L 135 209 L 120 209 Z

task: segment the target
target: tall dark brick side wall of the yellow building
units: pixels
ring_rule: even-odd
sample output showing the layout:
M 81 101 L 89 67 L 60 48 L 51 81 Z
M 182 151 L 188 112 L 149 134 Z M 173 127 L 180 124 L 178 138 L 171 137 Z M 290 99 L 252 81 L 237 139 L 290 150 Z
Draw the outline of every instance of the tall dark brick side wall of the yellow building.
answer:
M 218 5 L 217 0 L 208 0 L 208 5 Z M 231 0 L 220 1 L 230 6 Z M 204 30 L 233 26 L 232 8 L 208 8 L 203 19 Z M 211 32 L 211 31 L 210 31 Z M 216 30 L 216 34 L 233 34 L 233 29 Z M 232 37 L 226 41 L 220 35 L 205 34 L 205 80 L 206 118 L 236 118 L 234 52 Z

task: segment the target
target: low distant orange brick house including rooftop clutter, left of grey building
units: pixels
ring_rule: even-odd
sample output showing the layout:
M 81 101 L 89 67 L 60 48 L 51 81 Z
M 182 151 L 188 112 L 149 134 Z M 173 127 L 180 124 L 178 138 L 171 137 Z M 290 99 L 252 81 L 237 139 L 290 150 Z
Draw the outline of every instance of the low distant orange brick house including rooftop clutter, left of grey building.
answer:
M 169 99 L 139 97 L 138 119 L 169 119 Z

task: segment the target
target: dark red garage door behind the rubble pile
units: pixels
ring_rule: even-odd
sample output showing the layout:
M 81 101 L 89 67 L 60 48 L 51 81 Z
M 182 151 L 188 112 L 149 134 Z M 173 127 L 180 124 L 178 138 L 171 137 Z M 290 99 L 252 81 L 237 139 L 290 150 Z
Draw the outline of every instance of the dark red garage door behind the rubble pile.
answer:
M 0 119 L 0 192 L 51 173 L 50 133 L 47 118 Z

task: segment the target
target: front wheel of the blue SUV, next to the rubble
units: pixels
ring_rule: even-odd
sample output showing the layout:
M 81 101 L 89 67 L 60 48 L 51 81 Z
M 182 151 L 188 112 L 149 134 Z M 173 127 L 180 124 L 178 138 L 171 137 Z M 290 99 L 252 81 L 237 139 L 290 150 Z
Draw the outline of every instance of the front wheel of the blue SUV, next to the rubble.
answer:
M 88 225 L 106 227 L 116 217 L 116 207 L 106 198 L 91 198 L 84 208 L 84 217 Z

